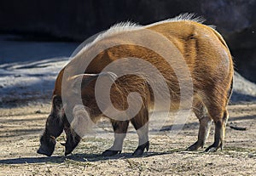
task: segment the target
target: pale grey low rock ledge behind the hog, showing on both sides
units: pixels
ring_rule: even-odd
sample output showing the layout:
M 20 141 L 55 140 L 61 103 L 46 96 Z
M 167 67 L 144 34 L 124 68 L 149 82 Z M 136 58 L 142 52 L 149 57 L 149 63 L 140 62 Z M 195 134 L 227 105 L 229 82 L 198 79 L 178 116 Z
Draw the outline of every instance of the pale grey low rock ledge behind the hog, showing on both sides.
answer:
M 23 102 L 24 101 L 38 101 L 43 99 L 49 102 L 52 94 L 52 90 L 55 84 L 55 77 L 58 71 L 67 64 L 69 60 L 56 60 L 48 59 L 41 61 L 30 61 L 26 63 L 20 63 L 19 66 L 15 64 L 0 65 L 0 71 L 5 77 L 0 77 L 0 81 L 4 84 L 3 88 L 0 88 L 0 105 L 9 104 L 11 102 Z M 34 67 L 28 65 L 41 65 L 47 62 L 46 67 Z M 20 69 L 22 67 L 23 69 Z M 2 69 L 1 69 L 2 68 Z M 31 75 L 27 74 L 30 73 Z M 34 74 L 37 73 L 37 74 Z M 51 73 L 49 75 L 49 72 Z M 24 74 L 26 73 L 26 74 Z M 22 74 L 23 77 L 15 77 L 14 75 Z M 38 74 L 42 75 L 38 78 Z M 247 81 L 244 77 L 241 77 L 237 72 L 234 77 L 234 93 L 231 97 L 231 103 L 237 104 L 241 102 L 256 102 L 256 85 L 253 82 Z M 40 110 L 35 113 L 41 113 Z

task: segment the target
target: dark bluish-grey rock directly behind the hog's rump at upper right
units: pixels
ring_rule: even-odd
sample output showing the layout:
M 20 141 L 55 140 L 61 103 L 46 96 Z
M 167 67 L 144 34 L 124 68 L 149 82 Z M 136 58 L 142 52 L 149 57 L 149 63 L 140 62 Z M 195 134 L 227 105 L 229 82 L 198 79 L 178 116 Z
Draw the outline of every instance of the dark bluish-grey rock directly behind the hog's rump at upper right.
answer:
M 253 82 L 256 82 L 255 9 L 255 0 L 201 0 L 201 14 L 224 35 L 237 71 Z

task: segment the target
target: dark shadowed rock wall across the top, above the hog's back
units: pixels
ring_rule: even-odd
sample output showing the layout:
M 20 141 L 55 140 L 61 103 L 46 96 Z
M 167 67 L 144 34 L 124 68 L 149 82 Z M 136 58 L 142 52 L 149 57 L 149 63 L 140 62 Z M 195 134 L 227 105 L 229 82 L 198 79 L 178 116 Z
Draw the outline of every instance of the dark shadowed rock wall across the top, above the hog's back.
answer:
M 256 82 L 255 9 L 256 0 L 1 1 L 0 32 L 21 33 L 24 40 L 84 41 L 120 21 L 145 25 L 195 12 L 205 17 L 207 24 L 217 26 L 230 46 L 237 70 Z

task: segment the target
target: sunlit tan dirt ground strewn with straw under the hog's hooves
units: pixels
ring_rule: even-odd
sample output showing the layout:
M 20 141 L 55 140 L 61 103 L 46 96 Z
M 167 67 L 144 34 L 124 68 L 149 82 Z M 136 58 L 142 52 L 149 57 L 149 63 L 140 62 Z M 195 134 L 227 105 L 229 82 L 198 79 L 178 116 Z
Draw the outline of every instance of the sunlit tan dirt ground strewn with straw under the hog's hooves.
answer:
M 72 155 L 63 156 L 64 134 L 57 139 L 53 156 L 38 155 L 49 110 L 49 104 L 0 109 L 0 175 L 256 175 L 256 104 L 230 105 L 224 150 L 185 150 L 197 137 L 198 122 L 191 115 L 177 135 L 168 130 L 172 122 L 160 130 L 153 122 L 150 149 L 142 157 L 131 156 L 137 147 L 132 128 L 121 154 L 100 156 L 113 142 L 113 133 L 103 122 L 102 131 L 85 137 Z M 213 142 L 213 129 L 206 146 Z

